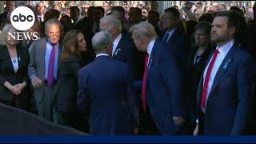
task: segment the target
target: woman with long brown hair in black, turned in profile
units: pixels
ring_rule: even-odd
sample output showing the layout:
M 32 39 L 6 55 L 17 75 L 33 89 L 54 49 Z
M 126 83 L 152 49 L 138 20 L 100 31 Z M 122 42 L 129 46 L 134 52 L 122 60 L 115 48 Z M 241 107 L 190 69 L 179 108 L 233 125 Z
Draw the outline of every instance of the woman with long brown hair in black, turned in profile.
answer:
M 79 30 L 70 30 L 63 40 L 58 84 L 54 88 L 52 104 L 54 123 L 84 130 L 85 118 L 77 109 L 78 70 L 83 66 L 82 51 L 86 51 L 85 36 Z

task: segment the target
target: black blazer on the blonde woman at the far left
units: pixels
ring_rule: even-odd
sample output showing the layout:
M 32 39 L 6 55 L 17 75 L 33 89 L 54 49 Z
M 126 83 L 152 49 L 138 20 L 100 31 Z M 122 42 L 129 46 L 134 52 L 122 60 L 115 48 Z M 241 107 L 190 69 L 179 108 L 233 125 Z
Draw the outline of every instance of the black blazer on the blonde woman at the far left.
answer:
M 29 65 L 28 50 L 22 46 L 17 45 L 18 56 L 18 71 L 15 73 L 14 66 L 10 59 L 10 54 L 6 46 L 0 46 L 0 100 L 12 101 L 14 94 L 11 93 L 3 84 L 8 81 L 11 85 L 26 82 L 28 83 L 27 67 Z M 20 94 L 22 97 L 27 97 L 26 89 Z M 18 97 L 21 97 L 21 96 Z

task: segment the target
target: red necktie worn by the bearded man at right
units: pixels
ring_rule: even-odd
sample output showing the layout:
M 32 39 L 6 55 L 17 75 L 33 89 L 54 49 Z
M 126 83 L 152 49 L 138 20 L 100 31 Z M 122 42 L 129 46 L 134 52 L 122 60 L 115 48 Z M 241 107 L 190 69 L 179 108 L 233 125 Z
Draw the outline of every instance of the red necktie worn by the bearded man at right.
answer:
M 207 94 L 207 87 L 208 87 L 208 83 L 209 83 L 209 79 L 210 79 L 210 73 L 214 67 L 214 62 L 217 58 L 218 53 L 219 53 L 218 50 L 214 51 L 214 57 L 210 61 L 210 65 L 208 66 L 208 70 L 206 72 L 205 83 L 204 83 L 203 89 L 202 89 L 201 110 L 203 108 L 205 108 L 205 106 L 206 106 L 206 94 Z

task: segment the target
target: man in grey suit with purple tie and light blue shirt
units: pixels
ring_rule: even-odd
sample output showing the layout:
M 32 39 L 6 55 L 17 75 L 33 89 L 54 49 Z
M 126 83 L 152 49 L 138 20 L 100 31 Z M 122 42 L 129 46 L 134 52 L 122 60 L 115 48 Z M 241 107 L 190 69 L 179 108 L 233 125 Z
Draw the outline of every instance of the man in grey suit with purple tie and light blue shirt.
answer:
M 61 23 L 58 19 L 52 18 L 46 22 L 46 38 L 34 41 L 29 48 L 28 74 L 34 86 L 38 114 L 49 121 L 53 121 L 50 96 L 57 83 L 59 59 L 62 54 L 60 36 Z

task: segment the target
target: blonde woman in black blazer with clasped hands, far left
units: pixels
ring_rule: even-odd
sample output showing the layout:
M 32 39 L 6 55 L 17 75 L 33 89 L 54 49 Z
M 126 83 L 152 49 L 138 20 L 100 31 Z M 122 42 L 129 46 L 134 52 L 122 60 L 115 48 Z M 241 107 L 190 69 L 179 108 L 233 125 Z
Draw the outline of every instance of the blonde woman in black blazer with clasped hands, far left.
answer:
M 0 102 L 26 110 L 29 106 L 27 90 L 28 50 L 14 40 L 11 25 L 2 29 L 0 38 Z

